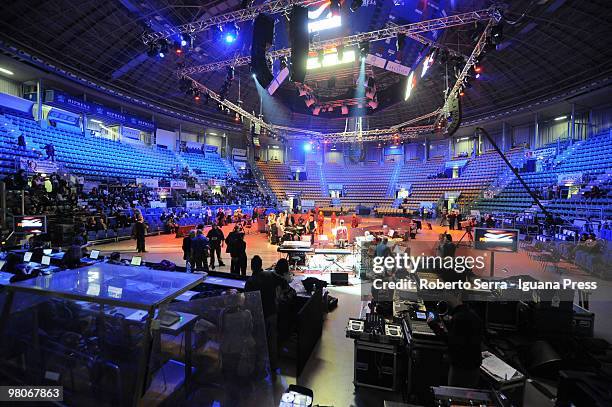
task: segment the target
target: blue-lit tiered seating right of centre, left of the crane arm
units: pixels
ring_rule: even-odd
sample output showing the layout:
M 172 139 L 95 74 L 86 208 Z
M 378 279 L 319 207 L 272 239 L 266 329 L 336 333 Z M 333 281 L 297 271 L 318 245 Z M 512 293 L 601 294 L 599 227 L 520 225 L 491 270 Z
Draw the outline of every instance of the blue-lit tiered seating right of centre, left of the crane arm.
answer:
M 506 154 L 509 159 L 515 159 L 524 153 L 522 149 L 515 149 Z M 438 168 L 441 165 L 442 163 L 439 163 Z M 495 151 L 486 152 L 469 161 L 458 178 L 421 178 L 413 182 L 412 194 L 407 199 L 406 206 L 410 210 L 417 210 L 421 202 L 438 202 L 444 197 L 445 192 L 461 192 L 457 203 L 460 207 L 464 207 L 489 186 L 505 168 L 505 163 Z

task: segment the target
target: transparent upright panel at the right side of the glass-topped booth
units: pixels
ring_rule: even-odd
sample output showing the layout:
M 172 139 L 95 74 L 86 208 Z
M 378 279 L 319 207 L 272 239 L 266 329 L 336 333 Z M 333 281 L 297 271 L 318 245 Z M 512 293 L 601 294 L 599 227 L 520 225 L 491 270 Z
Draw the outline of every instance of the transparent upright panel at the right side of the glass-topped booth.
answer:
M 190 348 L 193 365 L 190 403 L 274 405 L 259 292 L 176 302 L 170 304 L 169 310 L 196 316 Z M 146 403 L 163 400 L 185 375 L 185 333 L 174 335 L 163 329 L 161 332 L 161 344 L 154 345 L 151 361 L 154 368 Z

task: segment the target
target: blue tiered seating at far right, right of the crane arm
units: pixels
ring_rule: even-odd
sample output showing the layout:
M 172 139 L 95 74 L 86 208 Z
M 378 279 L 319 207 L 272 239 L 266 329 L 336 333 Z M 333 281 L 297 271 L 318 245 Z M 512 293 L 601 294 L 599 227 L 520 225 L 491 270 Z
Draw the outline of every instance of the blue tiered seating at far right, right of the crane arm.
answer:
M 608 133 L 592 137 L 575 145 L 563 154 L 563 160 L 555 160 L 553 168 L 542 172 L 521 174 L 523 180 L 536 192 L 542 187 L 557 183 L 557 177 L 562 173 L 582 172 L 583 175 L 595 178 L 605 178 L 606 170 L 612 168 L 612 138 Z M 604 180 L 601 185 L 607 185 Z M 476 203 L 476 209 L 481 212 L 516 213 L 531 208 L 533 201 L 518 180 L 511 181 L 493 199 L 482 199 Z M 545 207 L 551 213 L 561 217 L 596 216 L 603 218 L 612 216 L 612 196 L 586 199 L 578 194 L 570 199 L 553 199 L 545 202 Z

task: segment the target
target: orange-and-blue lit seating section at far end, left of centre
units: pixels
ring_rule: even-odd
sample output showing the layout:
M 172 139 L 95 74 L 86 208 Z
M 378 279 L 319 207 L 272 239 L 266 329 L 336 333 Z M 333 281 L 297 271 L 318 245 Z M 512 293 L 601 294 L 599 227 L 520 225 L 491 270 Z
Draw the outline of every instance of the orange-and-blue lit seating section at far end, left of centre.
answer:
M 287 164 L 259 161 L 257 166 L 279 200 L 286 199 L 287 194 L 301 194 L 302 199 L 314 200 L 316 206 L 329 204 L 329 198 L 323 196 L 321 173 L 317 163 L 306 163 L 308 179 L 303 181 L 291 178 L 291 167 Z

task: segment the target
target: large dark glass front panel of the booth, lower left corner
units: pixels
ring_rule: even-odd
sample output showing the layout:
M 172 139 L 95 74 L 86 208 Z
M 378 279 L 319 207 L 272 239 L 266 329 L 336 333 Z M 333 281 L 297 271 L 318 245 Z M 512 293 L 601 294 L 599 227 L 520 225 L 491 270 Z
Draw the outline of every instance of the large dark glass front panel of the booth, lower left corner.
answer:
M 129 315 L 142 311 L 22 292 L 14 304 L 0 337 L 0 384 L 63 386 L 68 405 L 132 403 L 145 324 Z

